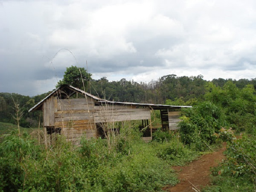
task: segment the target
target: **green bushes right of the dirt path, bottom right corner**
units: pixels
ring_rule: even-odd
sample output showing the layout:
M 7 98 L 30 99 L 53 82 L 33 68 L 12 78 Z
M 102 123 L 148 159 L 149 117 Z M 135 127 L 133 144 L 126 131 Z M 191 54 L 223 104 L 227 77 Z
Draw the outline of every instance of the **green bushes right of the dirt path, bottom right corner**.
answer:
M 256 187 L 256 136 L 243 135 L 236 139 L 231 130 L 223 129 L 221 136 L 228 138 L 226 159 L 212 170 L 213 186 L 204 189 L 212 191 L 250 192 Z M 226 137 L 227 136 L 227 137 Z

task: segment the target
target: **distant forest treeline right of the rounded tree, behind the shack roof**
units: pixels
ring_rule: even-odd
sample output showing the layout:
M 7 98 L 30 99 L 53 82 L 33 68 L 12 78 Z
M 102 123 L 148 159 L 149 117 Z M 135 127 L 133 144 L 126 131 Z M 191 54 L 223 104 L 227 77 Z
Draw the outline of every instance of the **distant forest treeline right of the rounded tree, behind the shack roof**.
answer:
M 256 89 L 255 79 L 213 79 L 206 81 L 203 76 L 182 76 L 176 75 L 163 76 L 148 83 L 127 81 L 108 81 L 106 77 L 99 80 L 92 80 L 87 91 L 100 98 L 116 102 L 140 102 L 165 104 L 166 100 L 175 101 L 181 98 L 187 102 L 190 99 L 200 99 L 206 91 L 206 84 L 212 82 L 217 87 L 223 87 L 227 81 L 232 81 L 238 88 L 244 88 L 247 84 L 253 84 Z

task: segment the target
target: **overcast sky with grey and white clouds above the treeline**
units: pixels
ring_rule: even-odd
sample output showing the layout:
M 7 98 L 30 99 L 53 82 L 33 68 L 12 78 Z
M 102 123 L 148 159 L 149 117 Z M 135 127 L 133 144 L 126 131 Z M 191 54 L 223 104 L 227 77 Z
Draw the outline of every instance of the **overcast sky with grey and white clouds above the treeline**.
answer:
M 0 0 L 0 92 L 45 93 L 71 65 L 110 81 L 256 78 L 256 1 Z

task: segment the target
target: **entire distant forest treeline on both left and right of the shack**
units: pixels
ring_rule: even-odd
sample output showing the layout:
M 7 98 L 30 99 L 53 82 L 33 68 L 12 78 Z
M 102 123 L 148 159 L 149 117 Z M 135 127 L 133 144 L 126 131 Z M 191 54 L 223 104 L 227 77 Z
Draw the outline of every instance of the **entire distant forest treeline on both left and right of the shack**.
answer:
M 140 102 L 168 105 L 194 105 L 203 98 L 207 92 L 207 85 L 212 82 L 216 87 L 223 87 L 231 81 L 239 89 L 247 84 L 252 84 L 256 89 L 255 79 L 213 79 L 206 81 L 203 76 L 163 76 L 148 83 L 127 81 L 108 81 L 106 77 L 92 79 L 87 86 L 87 92 L 100 98 L 116 102 Z M 39 119 L 42 121 L 41 112 L 28 113 L 29 108 L 44 99 L 51 91 L 38 96 L 29 97 L 17 93 L 0 93 L 0 122 L 15 123 L 12 115 L 15 113 L 14 102 L 19 102 L 23 108 L 23 117 L 20 125 L 23 127 L 37 127 Z

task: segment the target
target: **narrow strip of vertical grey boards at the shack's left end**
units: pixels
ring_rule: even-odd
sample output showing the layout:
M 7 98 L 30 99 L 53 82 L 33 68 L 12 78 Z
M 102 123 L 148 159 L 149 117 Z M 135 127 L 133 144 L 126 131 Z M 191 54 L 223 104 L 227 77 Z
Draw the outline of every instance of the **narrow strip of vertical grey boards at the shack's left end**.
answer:
M 54 126 L 54 123 L 55 123 L 54 113 L 55 111 L 57 111 L 56 105 L 57 105 L 57 99 L 54 96 L 49 97 L 44 102 L 44 127 Z

